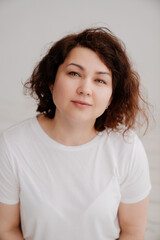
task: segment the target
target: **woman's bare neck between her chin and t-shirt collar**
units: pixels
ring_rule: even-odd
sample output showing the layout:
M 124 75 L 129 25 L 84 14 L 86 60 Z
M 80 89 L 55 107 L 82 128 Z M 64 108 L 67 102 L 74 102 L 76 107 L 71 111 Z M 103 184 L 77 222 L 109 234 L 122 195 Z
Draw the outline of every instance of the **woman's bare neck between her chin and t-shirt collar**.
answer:
M 43 130 L 55 141 L 68 145 L 78 146 L 92 140 L 97 131 L 94 128 L 94 123 L 75 123 L 63 121 L 60 119 L 48 119 L 44 116 L 38 117 L 39 123 Z

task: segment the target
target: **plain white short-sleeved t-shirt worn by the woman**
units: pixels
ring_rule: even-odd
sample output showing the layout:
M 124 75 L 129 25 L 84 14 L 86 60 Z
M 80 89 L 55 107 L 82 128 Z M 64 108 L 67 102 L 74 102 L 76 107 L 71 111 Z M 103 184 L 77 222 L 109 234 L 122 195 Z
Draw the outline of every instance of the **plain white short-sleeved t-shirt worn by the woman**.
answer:
M 0 201 L 20 201 L 26 240 L 115 240 L 120 202 L 151 189 L 141 141 L 100 132 L 80 146 L 51 139 L 36 117 L 0 137 Z

